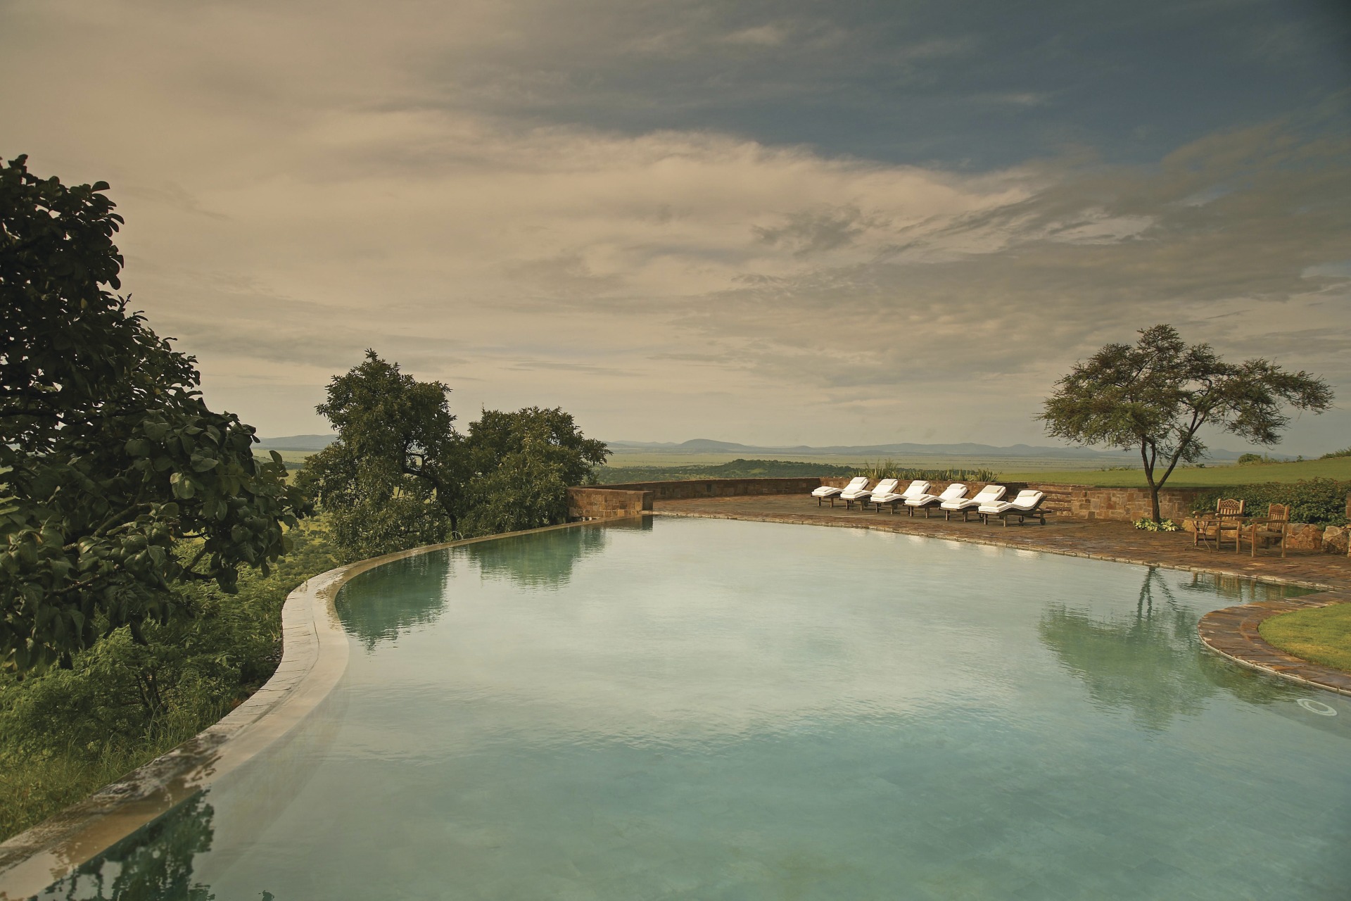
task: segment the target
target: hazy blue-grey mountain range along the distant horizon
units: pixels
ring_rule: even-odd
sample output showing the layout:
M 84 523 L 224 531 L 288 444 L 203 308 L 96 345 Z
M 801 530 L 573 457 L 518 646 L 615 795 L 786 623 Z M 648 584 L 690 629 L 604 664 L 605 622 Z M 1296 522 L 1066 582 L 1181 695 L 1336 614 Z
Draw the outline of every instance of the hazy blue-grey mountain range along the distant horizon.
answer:
M 265 438 L 261 442 L 263 450 L 323 450 L 338 438 L 336 435 L 288 435 L 285 438 Z M 624 451 L 643 451 L 646 454 L 807 454 L 821 455 L 848 455 L 848 457 L 1063 457 L 1066 459 L 1121 459 L 1135 458 L 1124 451 L 1100 451 L 1092 447 L 1051 447 L 1036 444 L 1009 444 L 996 447 L 994 444 L 973 444 L 962 442 L 958 444 L 913 444 L 904 442 L 900 444 L 831 444 L 827 447 L 812 447 L 796 444 L 793 447 L 762 447 L 758 444 L 738 444 L 735 442 L 715 442 L 709 438 L 694 438 L 688 442 L 607 442 L 609 448 L 623 454 Z M 1209 459 L 1238 459 L 1244 451 L 1212 450 Z M 1271 454 L 1275 459 L 1293 459 L 1282 454 Z

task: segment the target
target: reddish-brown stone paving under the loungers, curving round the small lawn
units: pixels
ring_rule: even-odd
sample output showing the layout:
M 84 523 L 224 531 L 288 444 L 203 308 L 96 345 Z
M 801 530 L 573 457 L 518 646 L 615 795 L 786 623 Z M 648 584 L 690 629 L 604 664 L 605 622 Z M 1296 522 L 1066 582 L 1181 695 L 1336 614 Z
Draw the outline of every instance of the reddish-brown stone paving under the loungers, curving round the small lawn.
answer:
M 1351 673 L 1319 666 L 1267 644 L 1258 625 L 1269 616 L 1351 602 L 1351 559 L 1336 554 L 1292 552 L 1289 557 L 1251 557 L 1233 551 L 1196 547 L 1188 532 L 1144 532 L 1129 523 L 1104 523 L 1047 516 L 1046 525 L 1029 520 L 1024 525 L 981 523 L 978 519 L 947 520 L 942 515 L 907 516 L 904 512 L 847 509 L 843 504 L 817 507 L 811 497 L 793 494 L 754 497 L 711 497 L 657 501 L 658 516 L 746 519 L 765 523 L 878 528 L 907 535 L 932 535 L 958 542 L 1021 547 L 1070 557 L 1088 557 L 1121 563 L 1143 563 L 1194 573 L 1219 573 L 1269 582 L 1286 582 L 1323 589 L 1319 594 L 1282 601 L 1229 607 L 1206 613 L 1197 627 L 1201 640 L 1213 651 L 1256 670 L 1305 685 L 1351 694 Z

